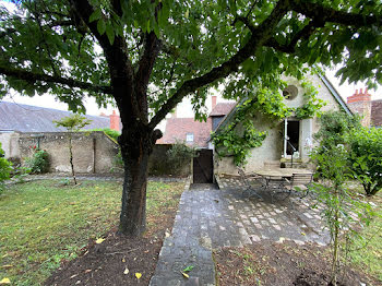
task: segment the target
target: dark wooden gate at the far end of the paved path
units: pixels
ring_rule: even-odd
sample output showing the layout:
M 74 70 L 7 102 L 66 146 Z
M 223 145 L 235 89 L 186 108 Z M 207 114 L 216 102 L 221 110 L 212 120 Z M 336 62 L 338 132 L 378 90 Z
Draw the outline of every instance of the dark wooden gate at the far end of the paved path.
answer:
M 193 158 L 193 182 L 212 183 L 213 182 L 213 152 L 202 148 L 198 152 L 199 156 Z

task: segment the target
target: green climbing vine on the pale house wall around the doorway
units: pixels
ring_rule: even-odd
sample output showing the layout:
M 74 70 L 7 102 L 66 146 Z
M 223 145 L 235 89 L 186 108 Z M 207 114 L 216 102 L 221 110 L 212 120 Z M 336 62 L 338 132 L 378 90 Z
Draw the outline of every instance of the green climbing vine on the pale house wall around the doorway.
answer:
M 286 83 L 280 81 L 280 87 Z M 318 91 L 307 80 L 301 82 L 305 94 L 305 104 L 297 108 L 290 108 L 285 104 L 278 88 L 260 87 L 249 98 L 239 104 L 229 124 L 212 134 L 216 153 L 219 157 L 232 156 L 236 166 L 247 164 L 251 148 L 262 145 L 266 138 L 266 131 L 259 131 L 253 124 L 253 119 L 261 112 L 273 122 L 279 122 L 293 115 L 298 119 L 313 118 L 320 115 L 320 109 L 325 103 L 318 98 Z

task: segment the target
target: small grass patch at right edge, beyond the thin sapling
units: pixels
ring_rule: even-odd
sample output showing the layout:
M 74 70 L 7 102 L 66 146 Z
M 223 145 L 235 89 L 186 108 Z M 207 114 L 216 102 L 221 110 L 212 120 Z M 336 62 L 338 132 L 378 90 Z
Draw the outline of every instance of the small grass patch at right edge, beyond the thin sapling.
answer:
M 377 276 L 382 283 L 382 193 L 368 198 L 374 204 L 375 217 L 361 233 L 349 253 L 351 261 L 363 271 Z

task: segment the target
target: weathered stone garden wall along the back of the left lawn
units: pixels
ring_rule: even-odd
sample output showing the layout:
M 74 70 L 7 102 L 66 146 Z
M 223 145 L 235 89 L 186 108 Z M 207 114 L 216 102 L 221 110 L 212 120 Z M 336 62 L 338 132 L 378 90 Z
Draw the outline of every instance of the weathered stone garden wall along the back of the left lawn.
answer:
M 31 157 L 35 147 L 46 150 L 50 160 L 51 172 L 70 172 L 69 133 L 44 132 L 20 133 L 17 154 L 23 162 Z M 73 132 L 73 164 L 76 172 L 107 174 L 121 172 L 122 166 L 116 165 L 119 145 L 103 131 Z M 191 174 L 191 162 L 175 169 L 167 159 L 167 151 L 171 145 L 155 145 L 148 162 L 150 176 L 186 177 Z

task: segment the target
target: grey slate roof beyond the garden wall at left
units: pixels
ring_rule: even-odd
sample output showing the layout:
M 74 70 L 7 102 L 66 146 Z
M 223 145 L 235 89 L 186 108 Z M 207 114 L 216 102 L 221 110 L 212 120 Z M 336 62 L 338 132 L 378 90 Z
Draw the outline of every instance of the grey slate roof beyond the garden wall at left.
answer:
M 19 132 L 61 132 L 64 128 L 57 128 L 53 120 L 70 116 L 72 112 L 52 108 L 0 102 L 0 130 Z M 86 116 L 93 120 L 84 129 L 109 128 L 110 119 L 100 116 Z

